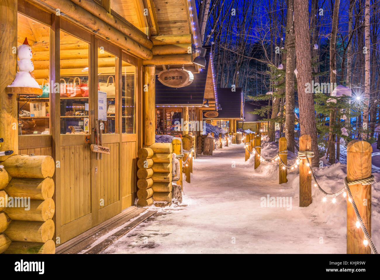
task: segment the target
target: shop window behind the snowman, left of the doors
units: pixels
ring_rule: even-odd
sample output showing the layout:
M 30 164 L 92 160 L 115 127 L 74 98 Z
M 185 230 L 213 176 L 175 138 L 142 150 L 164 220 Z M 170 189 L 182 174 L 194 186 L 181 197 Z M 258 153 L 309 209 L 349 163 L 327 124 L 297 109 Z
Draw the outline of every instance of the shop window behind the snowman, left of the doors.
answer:
M 49 102 L 49 54 L 50 28 L 38 21 L 17 14 L 17 47 L 27 43 L 32 49 L 33 74 L 43 89 L 41 96 L 20 94 L 18 96 L 19 135 L 51 134 Z M 21 65 L 21 62 L 18 64 Z M 25 69 L 18 67 L 19 71 Z M 30 70 L 30 69 L 27 69 Z

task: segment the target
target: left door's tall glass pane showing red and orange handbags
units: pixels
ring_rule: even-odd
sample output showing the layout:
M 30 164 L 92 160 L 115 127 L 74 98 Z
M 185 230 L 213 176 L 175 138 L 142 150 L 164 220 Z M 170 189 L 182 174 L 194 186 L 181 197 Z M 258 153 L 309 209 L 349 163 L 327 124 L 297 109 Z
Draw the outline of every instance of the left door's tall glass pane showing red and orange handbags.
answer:
M 89 134 L 89 43 L 60 31 L 61 134 Z

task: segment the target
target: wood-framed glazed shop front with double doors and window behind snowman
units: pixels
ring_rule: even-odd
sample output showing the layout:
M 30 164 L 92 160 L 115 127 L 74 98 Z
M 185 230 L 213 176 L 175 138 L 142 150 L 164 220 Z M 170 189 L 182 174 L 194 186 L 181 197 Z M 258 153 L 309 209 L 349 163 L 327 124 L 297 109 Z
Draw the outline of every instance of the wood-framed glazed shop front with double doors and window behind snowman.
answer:
M 58 246 L 134 205 L 142 62 L 62 17 L 22 3 L 17 46 L 28 43 L 32 49 L 43 95 L 19 96 L 19 154 L 48 155 L 56 162 Z M 94 144 L 109 154 L 92 151 Z

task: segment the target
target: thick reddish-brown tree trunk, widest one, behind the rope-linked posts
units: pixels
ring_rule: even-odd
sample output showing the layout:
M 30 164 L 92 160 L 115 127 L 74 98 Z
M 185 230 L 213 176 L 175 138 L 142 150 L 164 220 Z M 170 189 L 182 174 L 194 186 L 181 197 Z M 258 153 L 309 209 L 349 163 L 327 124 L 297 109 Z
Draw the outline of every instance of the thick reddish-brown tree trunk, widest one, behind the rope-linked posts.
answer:
M 298 103 L 299 124 L 301 134 L 309 134 L 312 141 L 312 165 L 319 165 L 317 145 L 317 127 L 315 125 L 315 110 L 313 93 L 306 91 L 307 84 L 311 84 L 311 51 L 309 36 L 309 1 L 294 0 L 294 35 L 296 46 L 296 68 L 298 71 Z

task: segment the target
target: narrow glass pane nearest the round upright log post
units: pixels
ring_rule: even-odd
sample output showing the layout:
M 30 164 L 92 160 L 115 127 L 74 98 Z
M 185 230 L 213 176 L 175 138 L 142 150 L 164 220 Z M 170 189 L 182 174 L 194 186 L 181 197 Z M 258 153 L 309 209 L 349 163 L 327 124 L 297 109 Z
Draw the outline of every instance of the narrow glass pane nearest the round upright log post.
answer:
M 122 133 L 136 133 L 136 67 L 122 61 Z

